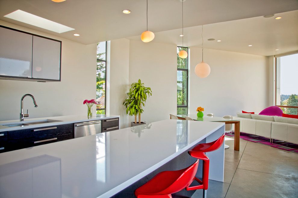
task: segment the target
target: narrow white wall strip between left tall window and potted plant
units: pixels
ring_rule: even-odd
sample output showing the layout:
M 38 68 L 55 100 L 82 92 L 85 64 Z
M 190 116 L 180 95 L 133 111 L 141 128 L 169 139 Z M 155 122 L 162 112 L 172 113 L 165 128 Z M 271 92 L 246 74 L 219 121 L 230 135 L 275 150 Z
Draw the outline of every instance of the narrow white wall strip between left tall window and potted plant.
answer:
M 126 128 L 129 117 L 122 103 L 129 90 L 129 40 L 112 40 L 110 49 L 110 115 L 120 115 L 120 128 Z

